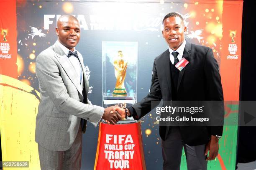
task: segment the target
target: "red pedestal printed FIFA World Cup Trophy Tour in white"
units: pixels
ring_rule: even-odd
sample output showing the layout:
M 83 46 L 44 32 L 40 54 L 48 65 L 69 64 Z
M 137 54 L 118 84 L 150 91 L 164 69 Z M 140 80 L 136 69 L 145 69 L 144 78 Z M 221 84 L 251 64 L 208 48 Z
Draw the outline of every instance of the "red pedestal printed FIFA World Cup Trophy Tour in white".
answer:
M 100 122 L 95 170 L 146 170 L 141 123 Z

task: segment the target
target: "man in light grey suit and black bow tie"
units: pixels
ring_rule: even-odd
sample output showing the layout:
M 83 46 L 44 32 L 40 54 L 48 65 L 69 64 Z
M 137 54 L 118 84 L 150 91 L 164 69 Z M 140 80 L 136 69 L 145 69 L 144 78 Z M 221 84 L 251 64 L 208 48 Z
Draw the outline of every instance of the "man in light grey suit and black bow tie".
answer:
M 56 43 L 36 58 L 41 101 L 35 140 L 42 170 L 79 170 L 86 122 L 96 127 L 101 118 L 115 124 L 121 117 L 111 112 L 113 107 L 92 105 L 87 98 L 83 58 L 75 49 L 80 39 L 77 18 L 62 15 L 56 34 Z

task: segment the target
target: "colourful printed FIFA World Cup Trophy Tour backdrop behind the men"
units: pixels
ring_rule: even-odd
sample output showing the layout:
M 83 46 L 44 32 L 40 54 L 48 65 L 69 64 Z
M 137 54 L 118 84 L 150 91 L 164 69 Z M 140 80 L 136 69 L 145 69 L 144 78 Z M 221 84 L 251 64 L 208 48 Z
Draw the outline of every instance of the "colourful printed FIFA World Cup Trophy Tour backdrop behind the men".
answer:
M 138 43 L 138 101 L 147 95 L 154 58 L 168 48 L 162 38 L 161 22 L 170 12 L 183 16 L 187 41 L 212 48 L 220 66 L 224 99 L 239 99 L 241 0 L 156 0 L 142 3 L 1 0 L 0 6 L 0 130 L 3 161 L 29 161 L 27 169 L 40 169 L 34 141 L 40 101 L 35 60 L 41 51 L 57 40 L 56 20 L 64 14 L 74 15 L 81 23 L 81 39 L 76 49 L 84 58 L 90 82 L 89 98 L 93 104 L 102 106 L 103 41 Z M 225 122 L 237 117 L 238 104 L 226 104 Z M 158 122 L 153 112 L 141 122 L 146 167 L 148 170 L 159 170 L 163 160 Z M 97 136 L 98 127 L 94 128 L 88 123 L 87 132 L 83 135 L 83 170 L 94 168 Z M 218 158 L 208 162 L 208 168 L 235 169 L 236 141 L 237 126 L 226 125 Z M 185 167 L 183 155 L 181 169 Z

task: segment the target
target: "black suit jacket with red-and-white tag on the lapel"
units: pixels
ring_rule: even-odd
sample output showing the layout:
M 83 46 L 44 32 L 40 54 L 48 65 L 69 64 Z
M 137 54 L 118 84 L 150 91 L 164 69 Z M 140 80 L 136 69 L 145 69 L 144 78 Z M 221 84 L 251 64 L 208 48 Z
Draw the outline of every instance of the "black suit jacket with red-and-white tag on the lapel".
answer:
M 151 101 L 172 100 L 172 79 L 170 76 L 170 59 L 167 49 L 155 58 L 149 94 L 132 108 L 128 108 L 135 119 L 140 119 L 151 111 Z M 186 41 L 183 57 L 189 64 L 179 72 L 178 101 L 223 101 L 218 63 L 212 50 L 205 46 Z M 224 121 L 224 107 L 216 114 Z M 223 125 L 223 124 L 222 124 Z M 160 126 L 159 133 L 165 140 L 172 126 Z M 202 145 L 210 140 L 211 135 L 222 135 L 223 126 L 180 126 L 182 140 L 188 145 Z

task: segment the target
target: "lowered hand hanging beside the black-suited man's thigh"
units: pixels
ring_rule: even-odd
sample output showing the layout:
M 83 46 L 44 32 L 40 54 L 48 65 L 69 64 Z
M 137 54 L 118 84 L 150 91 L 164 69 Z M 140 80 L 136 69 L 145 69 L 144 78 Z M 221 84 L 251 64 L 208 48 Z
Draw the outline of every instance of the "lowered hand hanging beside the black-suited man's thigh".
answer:
M 209 156 L 206 160 L 214 160 L 216 156 L 218 156 L 219 151 L 219 140 L 216 136 L 212 135 L 210 141 L 205 146 L 205 156 L 208 154 Z

